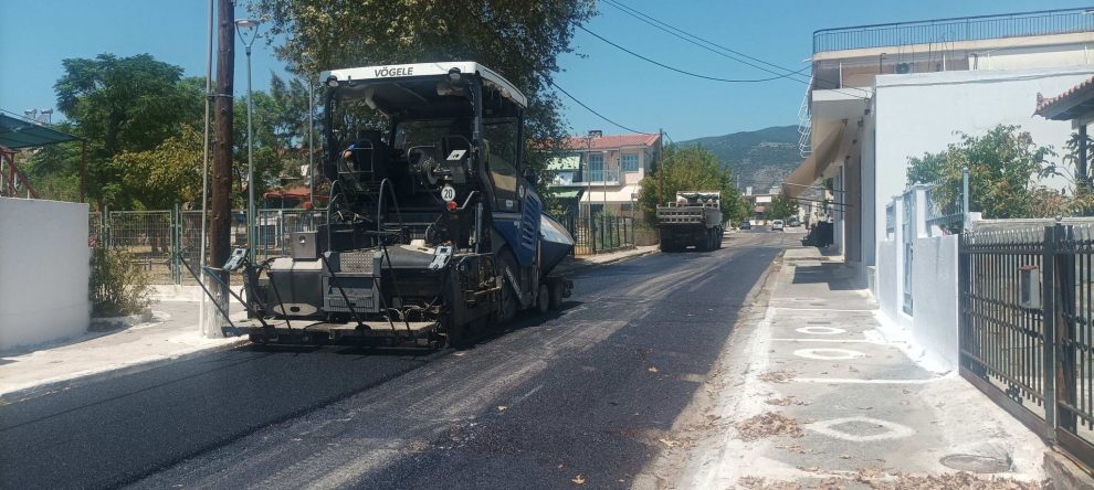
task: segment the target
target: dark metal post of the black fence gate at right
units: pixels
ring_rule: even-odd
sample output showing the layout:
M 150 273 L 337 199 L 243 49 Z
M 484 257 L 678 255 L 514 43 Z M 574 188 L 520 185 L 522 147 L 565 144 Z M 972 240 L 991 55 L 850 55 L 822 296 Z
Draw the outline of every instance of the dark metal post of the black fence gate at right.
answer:
M 1041 370 L 1044 374 L 1044 426 L 1045 438 L 1055 443 L 1056 440 L 1056 227 L 1044 227 L 1044 248 L 1042 251 L 1041 264 L 1041 323 L 1044 327 L 1042 332 L 1042 353 L 1044 362 Z

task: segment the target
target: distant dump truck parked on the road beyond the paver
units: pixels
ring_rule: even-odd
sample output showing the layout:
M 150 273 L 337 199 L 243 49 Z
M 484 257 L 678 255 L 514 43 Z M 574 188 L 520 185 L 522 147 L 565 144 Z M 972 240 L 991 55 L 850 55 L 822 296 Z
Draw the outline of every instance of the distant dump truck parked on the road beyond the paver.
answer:
M 676 201 L 658 205 L 661 252 L 694 246 L 701 252 L 722 248 L 722 194 L 717 191 L 677 192 Z

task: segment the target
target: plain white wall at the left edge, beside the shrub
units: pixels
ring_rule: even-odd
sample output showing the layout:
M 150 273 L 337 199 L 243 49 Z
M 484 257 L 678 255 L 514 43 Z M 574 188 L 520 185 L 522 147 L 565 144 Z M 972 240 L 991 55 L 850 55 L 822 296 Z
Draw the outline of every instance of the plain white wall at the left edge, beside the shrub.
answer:
M 0 198 L 0 351 L 87 331 L 87 204 Z

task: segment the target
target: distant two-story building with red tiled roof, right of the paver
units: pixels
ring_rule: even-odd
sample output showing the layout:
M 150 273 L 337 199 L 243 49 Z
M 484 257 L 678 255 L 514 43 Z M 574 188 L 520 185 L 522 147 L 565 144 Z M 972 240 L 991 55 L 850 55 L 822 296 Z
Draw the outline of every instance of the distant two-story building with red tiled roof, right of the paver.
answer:
M 658 159 L 656 134 L 604 135 L 591 130 L 567 138 L 548 164 L 551 188 L 570 213 L 630 214 L 637 211 L 639 182 Z

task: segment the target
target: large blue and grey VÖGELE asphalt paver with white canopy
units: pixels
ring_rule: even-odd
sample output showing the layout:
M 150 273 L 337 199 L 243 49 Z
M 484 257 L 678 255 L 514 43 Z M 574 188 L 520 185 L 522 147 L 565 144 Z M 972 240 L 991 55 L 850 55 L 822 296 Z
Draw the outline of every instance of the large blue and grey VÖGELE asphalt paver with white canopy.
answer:
M 527 99 L 475 62 L 324 72 L 330 200 L 286 256 L 242 269 L 256 343 L 459 345 L 561 308 L 574 238 L 524 173 Z M 238 251 L 236 251 L 238 252 Z M 233 255 L 235 258 L 236 255 Z

